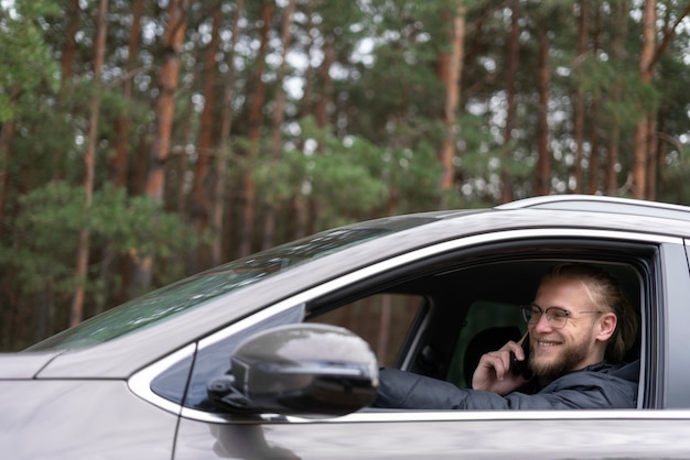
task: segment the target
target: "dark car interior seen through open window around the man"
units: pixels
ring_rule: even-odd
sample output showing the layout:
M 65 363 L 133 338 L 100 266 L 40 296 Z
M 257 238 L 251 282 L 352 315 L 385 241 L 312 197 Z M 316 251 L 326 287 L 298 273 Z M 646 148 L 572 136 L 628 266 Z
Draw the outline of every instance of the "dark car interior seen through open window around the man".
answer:
M 317 298 L 308 305 L 306 320 L 351 329 L 369 342 L 381 366 L 470 387 L 482 354 L 522 337 L 519 307 L 533 299 L 541 276 L 564 262 L 596 264 L 618 278 L 643 317 L 625 361 L 639 359 L 651 256 L 619 243 L 531 241 L 449 253 Z

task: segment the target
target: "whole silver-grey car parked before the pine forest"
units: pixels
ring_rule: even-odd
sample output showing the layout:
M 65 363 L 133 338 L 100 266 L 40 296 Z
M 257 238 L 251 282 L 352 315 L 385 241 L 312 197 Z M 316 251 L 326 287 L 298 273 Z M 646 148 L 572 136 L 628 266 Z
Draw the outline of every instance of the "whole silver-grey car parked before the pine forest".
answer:
M 587 195 L 387 217 L 180 281 L 0 357 L 17 459 L 688 458 L 690 208 Z M 637 408 L 371 407 L 380 366 L 463 387 L 563 262 L 639 309 Z

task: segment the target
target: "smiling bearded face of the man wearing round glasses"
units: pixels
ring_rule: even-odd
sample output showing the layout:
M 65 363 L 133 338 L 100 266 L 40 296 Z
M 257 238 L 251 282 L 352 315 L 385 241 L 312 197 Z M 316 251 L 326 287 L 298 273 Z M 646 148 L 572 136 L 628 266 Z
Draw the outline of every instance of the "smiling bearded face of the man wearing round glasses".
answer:
M 542 310 L 559 307 L 571 311 L 565 326 L 559 329 L 549 324 L 546 314 L 528 325 L 530 368 L 535 375 L 556 379 L 601 361 L 601 348 L 595 346 L 600 315 L 579 313 L 599 308 L 579 281 L 560 277 L 542 282 L 535 304 Z

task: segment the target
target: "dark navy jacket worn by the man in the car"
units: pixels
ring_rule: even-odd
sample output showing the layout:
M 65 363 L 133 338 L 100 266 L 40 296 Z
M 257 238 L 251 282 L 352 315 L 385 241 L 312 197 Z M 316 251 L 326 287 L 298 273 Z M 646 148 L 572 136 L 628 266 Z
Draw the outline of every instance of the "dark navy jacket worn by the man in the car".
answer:
M 375 407 L 407 409 L 602 409 L 635 408 L 639 361 L 600 363 L 565 374 L 533 394 L 505 396 L 461 390 L 450 382 L 381 369 Z

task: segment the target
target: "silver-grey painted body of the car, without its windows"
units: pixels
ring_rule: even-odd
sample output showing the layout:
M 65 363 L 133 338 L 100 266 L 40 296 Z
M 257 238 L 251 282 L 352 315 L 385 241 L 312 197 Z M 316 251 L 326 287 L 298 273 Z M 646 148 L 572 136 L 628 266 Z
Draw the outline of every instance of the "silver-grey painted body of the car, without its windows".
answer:
M 411 224 L 416 219 L 425 223 Z M 490 210 L 431 212 L 360 226 L 405 229 L 208 296 L 188 310 L 111 340 L 1 355 L 3 458 L 690 458 L 689 208 L 543 197 Z M 478 251 L 477 258 L 488 261 L 489 253 L 508 258 L 510 252 L 494 248 L 519 244 L 527 253 L 532 242 L 537 249 L 552 244 L 573 253 L 582 245 L 587 254 L 611 242 L 622 244 L 616 249 L 621 256 L 625 244 L 648 254 L 640 255 L 650 261 L 651 282 L 643 283 L 648 289 L 642 294 L 647 310 L 638 409 L 365 407 L 339 417 L 247 416 L 191 407 L 152 390 L 157 379 L 174 370 L 186 375 L 180 379 L 184 393 L 198 360 L 220 353 L 204 354 L 207 350 L 231 348 L 235 337 L 269 325 L 300 322 L 315 299 L 438 258 L 462 259 Z M 530 260 L 538 253 L 530 252 Z M 422 329 L 423 324 L 409 350 L 423 340 Z M 402 369 L 412 365 L 411 355 L 401 357 Z M 227 368 L 229 353 L 214 365 Z

